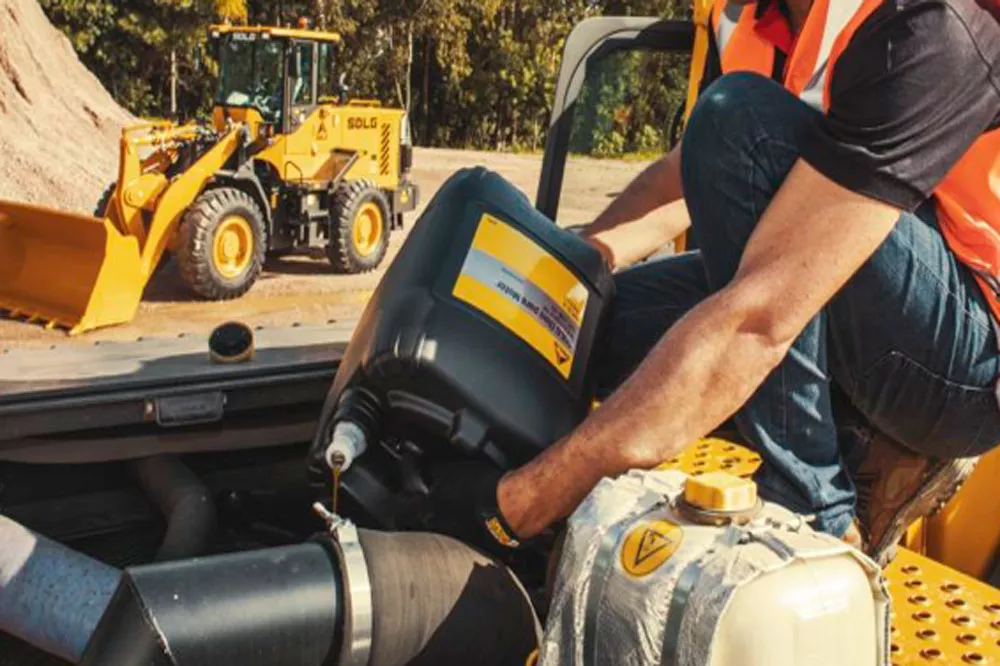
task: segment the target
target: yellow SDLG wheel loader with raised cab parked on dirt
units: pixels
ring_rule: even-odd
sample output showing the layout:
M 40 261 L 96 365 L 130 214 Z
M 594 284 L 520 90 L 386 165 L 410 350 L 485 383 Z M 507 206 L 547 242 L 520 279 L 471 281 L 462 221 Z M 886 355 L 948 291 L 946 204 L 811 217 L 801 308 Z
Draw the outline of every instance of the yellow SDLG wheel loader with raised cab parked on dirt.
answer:
M 382 262 L 419 196 L 406 112 L 347 99 L 335 33 L 211 34 L 211 124 L 125 128 L 95 217 L 0 201 L 0 309 L 71 334 L 127 322 L 168 253 L 214 300 L 246 293 L 269 253 L 320 248 L 340 273 Z

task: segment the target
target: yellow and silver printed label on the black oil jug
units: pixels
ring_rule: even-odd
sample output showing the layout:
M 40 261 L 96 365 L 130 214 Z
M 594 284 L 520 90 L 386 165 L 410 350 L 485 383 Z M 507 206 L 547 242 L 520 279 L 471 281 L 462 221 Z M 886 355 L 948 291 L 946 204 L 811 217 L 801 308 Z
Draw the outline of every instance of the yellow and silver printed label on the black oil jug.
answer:
M 452 295 L 527 342 L 569 379 L 590 292 L 533 240 L 483 215 Z

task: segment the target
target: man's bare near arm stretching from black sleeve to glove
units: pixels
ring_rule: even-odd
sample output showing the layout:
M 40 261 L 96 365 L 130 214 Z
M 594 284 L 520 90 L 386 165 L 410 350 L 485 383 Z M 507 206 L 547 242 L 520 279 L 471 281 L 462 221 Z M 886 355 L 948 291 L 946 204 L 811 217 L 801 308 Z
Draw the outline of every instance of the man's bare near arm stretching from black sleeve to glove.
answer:
M 539 533 L 569 515 L 601 478 L 654 467 L 736 412 L 899 213 L 800 160 L 732 282 L 670 329 L 576 431 L 504 477 L 497 501 L 514 531 Z

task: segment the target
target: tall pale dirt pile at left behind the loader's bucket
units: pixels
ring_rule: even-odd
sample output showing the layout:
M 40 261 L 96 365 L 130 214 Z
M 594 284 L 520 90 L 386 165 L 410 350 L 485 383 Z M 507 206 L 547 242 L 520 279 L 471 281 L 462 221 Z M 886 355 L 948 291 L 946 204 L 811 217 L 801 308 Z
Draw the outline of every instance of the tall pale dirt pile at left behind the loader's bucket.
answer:
M 91 212 L 131 120 L 36 0 L 0 0 L 0 198 Z

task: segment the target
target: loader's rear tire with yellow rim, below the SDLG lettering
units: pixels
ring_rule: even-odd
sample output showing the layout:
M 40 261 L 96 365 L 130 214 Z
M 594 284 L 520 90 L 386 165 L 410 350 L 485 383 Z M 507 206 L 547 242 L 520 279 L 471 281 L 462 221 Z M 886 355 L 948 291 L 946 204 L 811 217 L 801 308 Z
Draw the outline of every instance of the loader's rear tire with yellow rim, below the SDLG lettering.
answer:
M 338 273 L 375 270 L 389 249 L 389 201 L 369 180 L 342 184 L 330 210 L 326 255 Z

